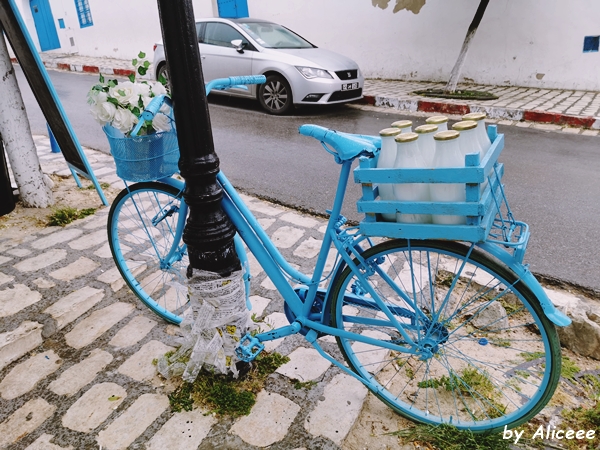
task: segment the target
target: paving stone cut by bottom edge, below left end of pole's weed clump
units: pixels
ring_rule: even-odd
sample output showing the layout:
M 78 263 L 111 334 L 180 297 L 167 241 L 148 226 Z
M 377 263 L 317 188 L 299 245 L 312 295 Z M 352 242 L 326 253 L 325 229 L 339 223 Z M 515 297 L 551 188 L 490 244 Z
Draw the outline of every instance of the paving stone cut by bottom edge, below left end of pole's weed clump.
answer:
M 175 413 L 146 444 L 146 450 L 188 450 L 208 436 L 217 419 L 198 408 Z

